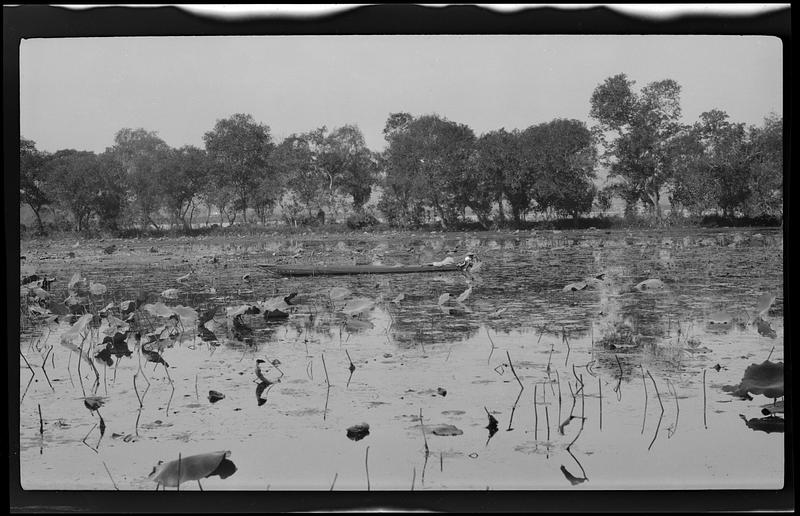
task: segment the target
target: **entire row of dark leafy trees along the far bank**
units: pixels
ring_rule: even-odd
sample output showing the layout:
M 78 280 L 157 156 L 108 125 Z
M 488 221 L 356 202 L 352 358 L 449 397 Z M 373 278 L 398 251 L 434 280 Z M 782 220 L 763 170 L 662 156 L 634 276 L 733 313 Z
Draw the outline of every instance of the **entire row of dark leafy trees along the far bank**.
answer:
M 20 139 L 20 200 L 39 231 L 44 210 L 67 214 L 71 228 L 190 230 L 212 209 L 228 223 L 319 223 L 349 215 L 348 225 L 377 222 L 455 228 L 472 217 L 484 228 L 531 215 L 577 218 L 621 198 L 661 218 L 779 216 L 783 209 L 783 121 L 734 123 L 710 110 L 682 124 L 680 86 L 672 80 L 634 90 L 624 74 L 591 98 L 597 122 L 555 119 L 524 130 L 477 136 L 435 114 L 389 114 L 383 152 L 370 150 L 356 125 L 320 127 L 276 142 L 251 115 L 218 120 L 204 148 L 172 148 L 156 132 L 124 128 L 102 153 L 47 153 Z M 605 167 L 611 185 L 599 189 Z M 377 202 L 370 205 L 370 200 Z M 238 217 L 241 217 L 238 219 Z M 64 220 L 64 217 L 57 217 Z M 330 220 L 330 219 L 329 219 Z M 202 221 L 199 221 L 202 222 Z

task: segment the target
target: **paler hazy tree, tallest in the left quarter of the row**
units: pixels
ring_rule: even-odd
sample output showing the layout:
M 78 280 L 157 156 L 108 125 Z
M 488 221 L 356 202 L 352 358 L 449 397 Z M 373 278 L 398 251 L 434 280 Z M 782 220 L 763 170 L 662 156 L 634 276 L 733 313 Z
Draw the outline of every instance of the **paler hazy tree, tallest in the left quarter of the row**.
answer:
M 163 203 L 169 146 L 156 132 L 124 128 L 117 132 L 109 152 L 125 170 L 126 182 L 142 225 L 160 229 L 153 216 Z

